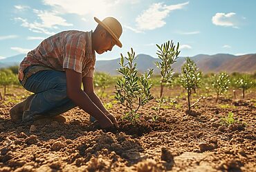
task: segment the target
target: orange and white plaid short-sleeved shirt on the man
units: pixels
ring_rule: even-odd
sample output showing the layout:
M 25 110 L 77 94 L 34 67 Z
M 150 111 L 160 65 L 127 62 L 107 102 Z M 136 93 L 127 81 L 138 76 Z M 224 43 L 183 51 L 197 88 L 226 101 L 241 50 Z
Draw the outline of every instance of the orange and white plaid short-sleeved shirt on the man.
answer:
M 92 31 L 69 30 L 48 37 L 35 50 L 28 52 L 19 65 L 19 80 L 42 70 L 65 71 L 73 69 L 82 77 L 93 77 L 95 51 L 92 49 Z M 26 76 L 24 70 L 31 67 Z

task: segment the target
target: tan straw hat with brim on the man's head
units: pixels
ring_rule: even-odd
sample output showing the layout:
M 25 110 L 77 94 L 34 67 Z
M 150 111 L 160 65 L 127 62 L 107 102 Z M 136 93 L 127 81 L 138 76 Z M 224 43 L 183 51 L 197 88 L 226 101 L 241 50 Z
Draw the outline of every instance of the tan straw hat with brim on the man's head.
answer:
M 113 17 L 107 17 L 103 21 L 100 21 L 96 17 L 94 17 L 94 20 L 102 25 L 102 27 L 113 36 L 113 39 L 116 40 L 116 45 L 118 47 L 122 47 L 122 43 L 119 41 L 119 38 L 122 34 L 122 25 L 119 23 L 119 21 Z

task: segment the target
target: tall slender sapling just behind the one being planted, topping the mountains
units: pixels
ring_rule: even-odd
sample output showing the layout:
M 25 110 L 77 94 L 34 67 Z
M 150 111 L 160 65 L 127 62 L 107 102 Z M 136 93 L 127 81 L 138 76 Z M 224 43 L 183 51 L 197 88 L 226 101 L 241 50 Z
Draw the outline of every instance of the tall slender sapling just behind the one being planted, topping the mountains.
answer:
M 156 54 L 161 59 L 161 62 L 156 62 L 156 67 L 161 71 L 161 90 L 160 90 L 160 98 L 163 97 L 163 87 L 165 83 L 172 83 L 172 77 L 174 75 L 172 64 L 176 62 L 181 51 L 179 51 L 179 42 L 175 46 L 171 41 L 167 41 L 166 43 L 157 45 L 159 50 L 157 50 Z

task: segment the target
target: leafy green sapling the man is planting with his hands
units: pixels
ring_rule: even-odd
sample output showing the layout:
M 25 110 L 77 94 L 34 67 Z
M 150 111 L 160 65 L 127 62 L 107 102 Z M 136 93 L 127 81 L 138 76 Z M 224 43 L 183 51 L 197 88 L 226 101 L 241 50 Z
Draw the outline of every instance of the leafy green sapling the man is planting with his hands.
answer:
M 125 118 L 135 124 L 140 118 L 140 114 L 137 114 L 138 109 L 153 99 L 150 93 L 152 84 L 149 83 L 153 69 L 148 73 L 145 72 L 143 76 L 138 76 L 137 64 L 134 63 L 136 59 L 134 50 L 131 48 L 131 52 L 127 54 L 128 57 L 121 54 L 119 63 L 121 67 L 118 72 L 122 74 L 122 78 L 119 78 L 115 85 L 115 98 L 128 109 Z M 126 64 L 124 58 L 128 61 Z

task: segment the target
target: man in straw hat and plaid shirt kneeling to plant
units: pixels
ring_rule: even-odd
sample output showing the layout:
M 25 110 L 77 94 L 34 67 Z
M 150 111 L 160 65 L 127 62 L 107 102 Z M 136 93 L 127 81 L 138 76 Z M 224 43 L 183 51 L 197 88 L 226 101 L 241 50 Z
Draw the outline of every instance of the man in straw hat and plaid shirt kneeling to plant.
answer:
M 113 17 L 94 19 L 98 26 L 93 32 L 60 32 L 28 52 L 19 65 L 19 81 L 35 94 L 10 109 L 13 122 L 28 122 L 38 116 L 65 121 L 60 114 L 79 106 L 91 119 L 97 119 L 102 129 L 118 127 L 116 118 L 94 92 L 93 72 L 95 52 L 111 51 L 114 45 L 122 47 L 122 26 Z

